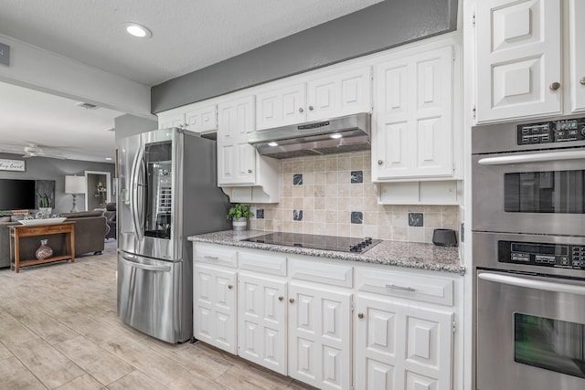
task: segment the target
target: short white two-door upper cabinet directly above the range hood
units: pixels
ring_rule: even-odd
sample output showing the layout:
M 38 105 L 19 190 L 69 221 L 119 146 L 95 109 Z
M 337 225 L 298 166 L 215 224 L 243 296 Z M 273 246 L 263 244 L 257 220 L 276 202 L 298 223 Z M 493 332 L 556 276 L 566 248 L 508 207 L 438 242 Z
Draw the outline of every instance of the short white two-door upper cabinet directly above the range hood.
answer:
M 257 129 L 372 111 L 371 67 L 333 69 L 256 94 Z

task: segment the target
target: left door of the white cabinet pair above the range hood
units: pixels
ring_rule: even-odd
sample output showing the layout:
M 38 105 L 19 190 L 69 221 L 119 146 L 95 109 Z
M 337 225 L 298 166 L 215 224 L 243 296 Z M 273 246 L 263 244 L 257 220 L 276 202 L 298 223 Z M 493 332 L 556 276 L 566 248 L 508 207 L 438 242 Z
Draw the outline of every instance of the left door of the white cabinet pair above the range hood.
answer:
M 270 129 L 305 121 L 305 95 L 304 83 L 258 93 L 256 128 Z

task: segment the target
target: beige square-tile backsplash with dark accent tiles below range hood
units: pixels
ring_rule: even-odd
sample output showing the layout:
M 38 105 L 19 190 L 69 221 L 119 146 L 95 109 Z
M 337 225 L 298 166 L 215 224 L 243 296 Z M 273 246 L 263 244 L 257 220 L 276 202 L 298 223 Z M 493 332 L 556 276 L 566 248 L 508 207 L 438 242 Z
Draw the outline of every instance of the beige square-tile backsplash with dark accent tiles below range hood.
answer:
M 281 202 L 258 204 L 250 228 L 326 236 L 432 242 L 435 228 L 459 231 L 459 206 L 378 205 L 371 153 L 281 161 Z

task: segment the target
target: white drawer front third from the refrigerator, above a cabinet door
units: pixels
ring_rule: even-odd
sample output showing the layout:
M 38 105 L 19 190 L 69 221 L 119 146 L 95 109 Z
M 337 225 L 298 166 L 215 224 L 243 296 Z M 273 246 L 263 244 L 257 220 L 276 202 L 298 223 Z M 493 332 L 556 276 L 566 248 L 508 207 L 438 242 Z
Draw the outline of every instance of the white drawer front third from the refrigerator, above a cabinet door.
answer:
M 290 258 L 289 268 L 293 279 L 348 288 L 352 288 L 354 285 L 354 268 L 352 266 Z

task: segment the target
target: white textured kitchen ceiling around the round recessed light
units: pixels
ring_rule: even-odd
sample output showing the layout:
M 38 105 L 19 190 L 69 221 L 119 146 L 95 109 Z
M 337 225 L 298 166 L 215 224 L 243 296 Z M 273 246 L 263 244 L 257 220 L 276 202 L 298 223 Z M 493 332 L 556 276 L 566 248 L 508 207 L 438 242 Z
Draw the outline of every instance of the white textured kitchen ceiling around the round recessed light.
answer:
M 380 1 L 0 0 L 0 34 L 152 86 Z

